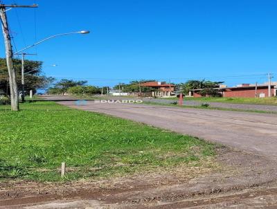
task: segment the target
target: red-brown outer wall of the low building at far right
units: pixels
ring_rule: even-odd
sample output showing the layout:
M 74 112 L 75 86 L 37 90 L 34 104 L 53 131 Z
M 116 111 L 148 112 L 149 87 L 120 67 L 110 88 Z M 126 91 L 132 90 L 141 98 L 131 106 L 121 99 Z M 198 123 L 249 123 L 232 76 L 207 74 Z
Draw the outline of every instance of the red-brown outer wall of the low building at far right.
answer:
M 265 93 L 265 97 L 268 97 L 268 89 L 257 89 L 257 97 L 260 94 Z M 274 96 L 274 89 L 271 89 L 271 96 Z M 232 91 L 224 91 L 223 97 L 226 98 L 255 98 L 255 89 L 232 89 Z

